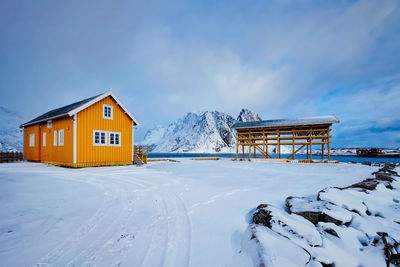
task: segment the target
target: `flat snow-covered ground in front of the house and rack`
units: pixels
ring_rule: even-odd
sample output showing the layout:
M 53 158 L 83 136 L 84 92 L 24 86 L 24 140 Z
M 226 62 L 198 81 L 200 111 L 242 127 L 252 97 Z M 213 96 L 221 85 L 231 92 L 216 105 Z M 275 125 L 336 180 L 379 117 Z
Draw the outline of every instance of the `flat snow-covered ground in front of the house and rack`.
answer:
M 0 266 L 252 266 L 249 211 L 347 186 L 377 167 L 153 162 L 0 164 Z

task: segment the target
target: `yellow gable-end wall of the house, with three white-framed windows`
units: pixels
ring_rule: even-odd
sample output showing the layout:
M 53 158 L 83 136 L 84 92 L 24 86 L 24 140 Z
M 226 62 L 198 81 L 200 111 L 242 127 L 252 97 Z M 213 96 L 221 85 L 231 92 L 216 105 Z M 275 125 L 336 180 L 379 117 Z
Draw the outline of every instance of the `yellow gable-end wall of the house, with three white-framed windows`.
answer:
M 113 107 L 112 120 L 103 118 L 103 104 Z M 120 132 L 121 146 L 94 146 L 93 130 Z M 132 153 L 132 120 L 112 97 L 77 114 L 77 163 L 126 162 Z

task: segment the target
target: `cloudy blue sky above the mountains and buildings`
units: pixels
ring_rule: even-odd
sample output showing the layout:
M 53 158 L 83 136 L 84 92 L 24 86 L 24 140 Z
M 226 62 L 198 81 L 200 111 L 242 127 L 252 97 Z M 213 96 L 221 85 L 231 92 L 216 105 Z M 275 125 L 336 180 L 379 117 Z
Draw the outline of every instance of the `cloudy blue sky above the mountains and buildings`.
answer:
M 26 120 L 110 88 L 135 138 L 189 111 L 336 115 L 333 147 L 400 147 L 400 1 L 0 3 L 0 106 Z

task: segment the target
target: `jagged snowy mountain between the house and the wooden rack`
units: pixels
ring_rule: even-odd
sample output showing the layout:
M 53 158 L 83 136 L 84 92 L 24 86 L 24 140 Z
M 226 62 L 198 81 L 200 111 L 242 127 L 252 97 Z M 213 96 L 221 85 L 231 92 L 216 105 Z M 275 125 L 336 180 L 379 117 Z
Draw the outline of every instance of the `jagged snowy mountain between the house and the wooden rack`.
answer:
M 237 119 L 220 111 L 189 112 L 167 127 L 149 130 L 143 145 L 151 152 L 232 153 L 236 149 L 236 121 L 260 121 L 260 116 L 242 109 Z

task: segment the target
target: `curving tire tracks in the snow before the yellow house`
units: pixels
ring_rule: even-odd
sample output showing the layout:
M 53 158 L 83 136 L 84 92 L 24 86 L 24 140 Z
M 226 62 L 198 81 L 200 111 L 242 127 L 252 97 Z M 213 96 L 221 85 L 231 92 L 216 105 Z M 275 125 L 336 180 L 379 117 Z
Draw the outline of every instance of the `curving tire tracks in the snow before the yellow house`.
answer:
M 189 264 L 190 221 L 186 207 L 177 195 L 163 192 L 157 185 L 148 181 L 131 177 L 136 174 L 135 172 L 110 172 L 106 175 L 93 172 L 91 169 L 82 171 L 80 174 L 88 177 L 80 175 L 75 178 L 77 176 L 75 170 L 57 173 L 55 176 L 59 176 L 57 178 L 60 179 L 93 184 L 111 200 L 107 202 L 106 207 L 103 206 L 87 220 L 85 225 L 79 227 L 72 236 L 45 255 L 36 266 L 104 265 L 103 260 L 110 260 L 105 258 L 110 256 L 105 252 L 110 251 L 110 246 L 116 244 L 117 237 L 126 234 L 125 230 L 130 229 L 129 224 L 135 218 L 135 209 L 131 206 L 135 196 L 141 198 L 141 201 L 153 200 L 156 214 L 151 218 L 154 219 L 153 222 L 141 228 L 141 231 L 151 237 L 150 241 L 144 244 L 147 248 L 142 260 L 134 263 L 141 263 L 141 266 L 187 266 Z M 146 173 L 141 172 L 141 174 Z M 160 172 L 156 174 L 165 175 Z M 116 207 L 118 207 L 117 211 L 115 211 Z M 104 223 L 110 221 L 110 218 L 112 223 L 105 230 L 100 229 Z M 123 260 L 129 259 L 129 247 L 119 248 L 116 244 L 116 247 L 112 248 L 119 253 L 114 255 L 116 256 L 115 265 L 127 263 Z

